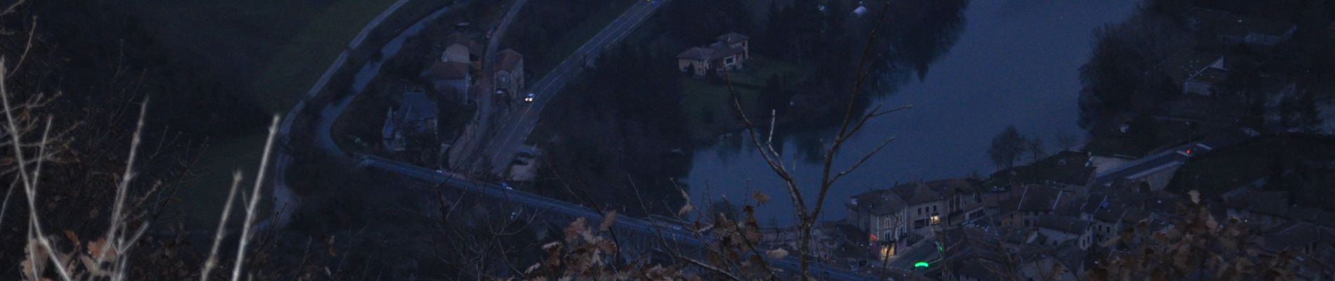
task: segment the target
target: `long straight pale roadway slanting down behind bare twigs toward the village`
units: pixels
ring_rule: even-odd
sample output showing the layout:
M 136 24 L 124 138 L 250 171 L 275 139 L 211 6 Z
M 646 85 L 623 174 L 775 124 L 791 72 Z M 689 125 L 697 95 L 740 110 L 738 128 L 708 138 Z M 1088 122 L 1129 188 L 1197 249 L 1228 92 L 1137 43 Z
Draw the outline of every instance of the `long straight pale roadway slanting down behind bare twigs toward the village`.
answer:
M 561 200 L 547 198 L 527 192 L 513 190 L 494 184 L 478 182 L 455 173 L 437 172 L 406 162 L 399 162 L 394 160 L 387 160 L 376 156 L 366 156 L 366 154 L 358 157 L 358 165 L 374 169 L 382 169 L 384 172 L 400 174 L 418 181 L 425 181 L 427 184 L 433 184 L 433 186 L 445 186 L 457 189 L 459 192 L 467 192 L 490 198 L 517 202 L 527 208 L 545 210 L 554 214 L 561 214 L 567 217 L 583 217 L 587 218 L 589 221 L 602 221 L 601 213 L 581 205 L 570 204 Z M 701 248 L 705 246 L 709 240 L 712 240 L 709 234 L 705 233 L 697 234 L 684 228 L 673 228 L 663 222 L 635 218 L 629 216 L 617 217 L 615 224 L 613 225 L 613 230 L 631 233 L 638 237 L 658 237 L 658 240 L 661 240 L 662 242 L 676 244 L 665 246 Z M 797 258 L 790 256 L 781 260 L 770 260 L 770 266 L 780 268 L 784 272 L 798 272 L 801 264 Z M 872 276 L 865 276 L 845 269 L 832 268 L 817 262 L 810 264 L 810 274 L 820 280 L 845 280 L 845 281 L 877 280 L 876 277 Z

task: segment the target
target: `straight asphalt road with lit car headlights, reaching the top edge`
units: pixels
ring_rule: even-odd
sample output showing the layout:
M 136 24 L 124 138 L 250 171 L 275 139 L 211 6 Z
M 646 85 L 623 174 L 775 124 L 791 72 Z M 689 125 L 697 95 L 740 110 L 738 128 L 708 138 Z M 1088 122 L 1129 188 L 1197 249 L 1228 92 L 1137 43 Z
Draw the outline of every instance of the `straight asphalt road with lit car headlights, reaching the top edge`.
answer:
M 645 19 L 649 19 L 666 1 L 669 0 L 655 0 L 653 3 L 637 0 L 635 5 L 627 8 L 625 13 L 613 20 L 611 24 L 607 24 L 598 35 L 594 35 L 579 49 L 575 49 L 574 53 L 562 60 L 547 76 L 533 83 L 529 87 L 529 92 L 533 92 L 535 96 L 533 103 L 527 103 L 522 111 L 515 111 L 507 115 L 506 119 L 499 120 L 498 139 L 482 152 L 491 161 L 491 172 L 503 174 L 505 169 L 510 168 L 510 160 L 523 148 L 529 133 L 538 124 L 538 116 L 542 115 L 542 109 L 561 92 L 561 88 L 566 83 L 570 83 L 571 79 L 583 71 L 586 57 L 594 57 L 607 47 L 621 41 L 621 39 L 630 35 L 635 27 L 643 23 Z

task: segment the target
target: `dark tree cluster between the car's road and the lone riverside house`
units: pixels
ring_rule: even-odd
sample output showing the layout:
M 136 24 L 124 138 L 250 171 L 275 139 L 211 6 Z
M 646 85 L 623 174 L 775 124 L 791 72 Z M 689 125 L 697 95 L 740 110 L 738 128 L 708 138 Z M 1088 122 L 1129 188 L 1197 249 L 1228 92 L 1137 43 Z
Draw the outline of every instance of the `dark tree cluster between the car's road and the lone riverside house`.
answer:
M 682 75 L 663 51 L 621 45 L 569 85 L 546 111 L 543 127 L 549 169 L 539 185 L 549 196 L 566 188 L 598 204 L 615 202 L 642 212 L 637 198 L 658 213 L 676 202 L 672 178 L 689 170 L 690 140 L 681 112 Z M 539 140 L 546 141 L 546 140 Z

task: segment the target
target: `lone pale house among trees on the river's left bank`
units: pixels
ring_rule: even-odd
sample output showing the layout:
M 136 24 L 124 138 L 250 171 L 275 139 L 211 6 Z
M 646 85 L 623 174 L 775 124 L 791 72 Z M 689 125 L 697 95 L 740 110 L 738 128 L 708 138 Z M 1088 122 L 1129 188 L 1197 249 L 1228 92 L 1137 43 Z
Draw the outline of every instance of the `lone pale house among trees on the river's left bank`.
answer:
M 750 60 L 750 37 L 736 32 L 717 37 L 717 41 L 705 47 L 693 47 L 677 55 L 677 69 L 696 76 L 705 76 L 709 71 L 741 69 L 746 60 Z

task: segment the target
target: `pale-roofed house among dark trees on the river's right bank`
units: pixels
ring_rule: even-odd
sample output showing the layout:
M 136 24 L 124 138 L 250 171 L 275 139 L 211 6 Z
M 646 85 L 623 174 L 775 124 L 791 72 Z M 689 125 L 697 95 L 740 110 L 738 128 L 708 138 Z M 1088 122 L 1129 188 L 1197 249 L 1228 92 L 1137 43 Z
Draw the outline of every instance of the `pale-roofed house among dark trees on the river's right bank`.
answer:
M 1160 65 L 1181 93 L 1215 96 L 1215 84 L 1223 81 L 1228 69 L 1224 57 L 1199 52 L 1177 52 Z

